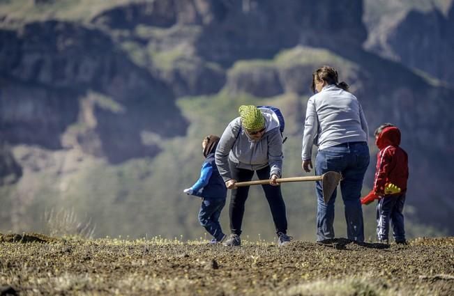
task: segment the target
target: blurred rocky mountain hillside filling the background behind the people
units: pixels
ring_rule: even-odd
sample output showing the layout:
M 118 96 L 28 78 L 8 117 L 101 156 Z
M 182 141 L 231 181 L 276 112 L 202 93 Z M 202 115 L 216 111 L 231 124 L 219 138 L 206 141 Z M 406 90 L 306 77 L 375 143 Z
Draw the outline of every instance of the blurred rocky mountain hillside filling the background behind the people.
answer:
M 273 104 L 285 176 L 307 175 L 311 74 L 333 65 L 369 123 L 363 193 L 372 132 L 394 123 L 409 153 L 409 237 L 454 235 L 453 31 L 452 0 L 0 0 L 0 232 L 50 232 L 66 212 L 96 237 L 203 237 L 199 200 L 182 193 L 203 137 L 241 104 Z M 315 184 L 282 191 L 289 233 L 315 240 Z M 364 210 L 373 239 L 374 206 Z M 228 205 L 226 231 L 227 216 Z M 273 239 L 259 187 L 243 225 Z

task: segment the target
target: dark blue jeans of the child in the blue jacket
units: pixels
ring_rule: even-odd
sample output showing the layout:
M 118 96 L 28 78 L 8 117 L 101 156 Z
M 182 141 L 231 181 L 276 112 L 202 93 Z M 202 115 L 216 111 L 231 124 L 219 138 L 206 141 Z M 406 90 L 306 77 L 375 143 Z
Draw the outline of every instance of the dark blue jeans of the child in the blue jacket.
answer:
M 224 208 L 225 199 L 203 199 L 199 210 L 199 222 L 204 226 L 206 231 L 220 241 L 224 237 L 222 228 L 219 223 L 220 212 Z

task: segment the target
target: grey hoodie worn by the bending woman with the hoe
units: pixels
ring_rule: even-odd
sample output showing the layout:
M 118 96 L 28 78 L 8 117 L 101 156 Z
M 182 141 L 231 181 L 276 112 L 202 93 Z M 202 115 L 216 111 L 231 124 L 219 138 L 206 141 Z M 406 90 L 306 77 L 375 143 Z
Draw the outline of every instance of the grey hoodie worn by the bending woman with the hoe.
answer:
M 215 163 L 220 176 L 225 182 L 232 179 L 229 161 L 239 169 L 257 171 L 270 166 L 270 176 L 275 173 L 278 177 L 282 172 L 282 135 L 279 130 L 279 120 L 271 114 L 264 113 L 265 133 L 258 141 L 250 139 L 241 127 L 241 117 L 232 120 L 222 133 L 218 148 L 215 152 Z

